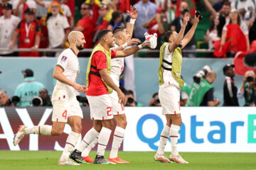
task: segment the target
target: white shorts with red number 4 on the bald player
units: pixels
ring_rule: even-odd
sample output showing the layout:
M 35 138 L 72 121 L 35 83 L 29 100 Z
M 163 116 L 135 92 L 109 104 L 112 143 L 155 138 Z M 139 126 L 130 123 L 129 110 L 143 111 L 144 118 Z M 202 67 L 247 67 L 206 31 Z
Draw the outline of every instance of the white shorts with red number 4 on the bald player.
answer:
M 71 100 L 52 101 L 53 122 L 68 122 L 68 117 L 76 115 L 82 118 L 82 109 L 76 97 Z

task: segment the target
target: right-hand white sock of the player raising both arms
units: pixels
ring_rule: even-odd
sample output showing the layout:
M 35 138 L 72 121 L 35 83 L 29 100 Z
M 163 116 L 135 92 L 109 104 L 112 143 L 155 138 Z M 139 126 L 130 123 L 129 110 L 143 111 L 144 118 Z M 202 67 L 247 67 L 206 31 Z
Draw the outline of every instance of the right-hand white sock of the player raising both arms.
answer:
M 170 137 L 171 137 L 171 154 L 178 155 L 178 130 L 180 130 L 180 126 L 178 125 L 171 125 L 170 128 Z

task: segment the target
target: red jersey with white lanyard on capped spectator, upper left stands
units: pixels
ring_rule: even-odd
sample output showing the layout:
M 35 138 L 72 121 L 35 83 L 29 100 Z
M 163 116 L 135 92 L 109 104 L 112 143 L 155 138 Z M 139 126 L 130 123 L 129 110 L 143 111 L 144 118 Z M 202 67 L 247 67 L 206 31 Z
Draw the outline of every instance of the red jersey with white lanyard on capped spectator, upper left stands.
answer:
M 35 45 L 36 35 L 41 35 L 41 26 L 36 20 L 30 24 L 23 20 L 18 24 L 15 31 L 20 35 L 19 47 L 31 48 Z M 40 54 L 39 52 L 19 52 L 19 55 L 23 57 L 38 57 Z

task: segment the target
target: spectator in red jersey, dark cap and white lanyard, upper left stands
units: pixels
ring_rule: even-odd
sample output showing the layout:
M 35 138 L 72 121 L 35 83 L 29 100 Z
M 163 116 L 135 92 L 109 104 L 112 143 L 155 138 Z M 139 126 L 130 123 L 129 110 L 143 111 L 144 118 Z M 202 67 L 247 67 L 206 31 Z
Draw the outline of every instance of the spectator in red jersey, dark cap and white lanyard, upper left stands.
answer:
M 19 35 L 19 48 L 31 48 L 32 51 L 38 50 L 41 39 L 41 26 L 37 20 L 35 20 L 35 12 L 31 8 L 27 8 L 25 11 L 26 20 L 21 21 L 18 24 L 10 49 L 16 44 L 17 37 Z M 39 52 L 19 52 L 21 57 L 39 57 Z

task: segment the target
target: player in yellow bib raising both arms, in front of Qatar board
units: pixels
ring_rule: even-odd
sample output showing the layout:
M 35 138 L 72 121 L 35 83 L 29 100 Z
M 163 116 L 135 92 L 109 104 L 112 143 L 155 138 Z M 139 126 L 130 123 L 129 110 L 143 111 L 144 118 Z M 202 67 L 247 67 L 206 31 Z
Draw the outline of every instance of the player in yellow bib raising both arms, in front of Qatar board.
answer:
M 183 38 L 185 28 L 189 21 L 188 13 L 183 18 L 183 26 L 179 33 L 169 30 L 164 34 L 164 44 L 160 48 L 159 59 L 159 99 L 163 108 L 162 114 L 166 116 L 166 125 L 161 132 L 159 148 L 154 160 L 159 162 L 177 162 L 188 164 L 178 154 L 178 130 L 181 127 L 180 89 L 183 87 L 181 79 L 181 49 L 186 47 L 193 37 L 199 22 L 199 16 L 195 16 L 195 23 L 191 30 Z M 171 137 L 171 155 L 169 159 L 164 155 L 166 142 Z

